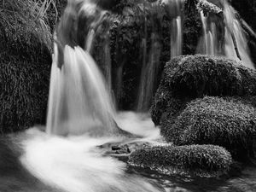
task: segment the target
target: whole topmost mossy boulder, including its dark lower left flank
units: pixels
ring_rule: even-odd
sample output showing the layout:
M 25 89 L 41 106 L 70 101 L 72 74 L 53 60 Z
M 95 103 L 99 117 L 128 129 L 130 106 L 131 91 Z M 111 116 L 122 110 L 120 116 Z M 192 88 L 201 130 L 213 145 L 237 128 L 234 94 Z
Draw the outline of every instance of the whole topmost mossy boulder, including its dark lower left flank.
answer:
M 187 102 L 203 96 L 252 95 L 256 96 L 255 70 L 223 57 L 182 55 L 166 63 L 151 108 L 152 119 L 160 125 L 165 112 L 177 116 Z

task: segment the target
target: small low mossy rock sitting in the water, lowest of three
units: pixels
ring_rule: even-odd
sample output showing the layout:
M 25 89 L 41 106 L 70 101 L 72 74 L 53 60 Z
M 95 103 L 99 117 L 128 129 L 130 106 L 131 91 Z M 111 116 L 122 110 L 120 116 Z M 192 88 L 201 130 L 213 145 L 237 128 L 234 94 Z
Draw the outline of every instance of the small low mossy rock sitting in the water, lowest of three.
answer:
M 133 152 L 129 163 L 169 173 L 215 175 L 229 170 L 232 163 L 230 153 L 213 145 L 156 146 Z

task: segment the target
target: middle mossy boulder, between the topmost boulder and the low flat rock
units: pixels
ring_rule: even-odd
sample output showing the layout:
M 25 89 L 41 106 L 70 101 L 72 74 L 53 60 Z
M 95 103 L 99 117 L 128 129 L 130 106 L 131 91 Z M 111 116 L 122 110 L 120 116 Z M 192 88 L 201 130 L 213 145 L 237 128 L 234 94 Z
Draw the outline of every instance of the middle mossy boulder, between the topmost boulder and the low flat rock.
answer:
M 206 96 L 190 102 L 162 133 L 177 145 L 214 144 L 227 148 L 235 159 L 256 157 L 256 109 L 239 98 Z M 168 119 L 167 119 L 168 120 Z

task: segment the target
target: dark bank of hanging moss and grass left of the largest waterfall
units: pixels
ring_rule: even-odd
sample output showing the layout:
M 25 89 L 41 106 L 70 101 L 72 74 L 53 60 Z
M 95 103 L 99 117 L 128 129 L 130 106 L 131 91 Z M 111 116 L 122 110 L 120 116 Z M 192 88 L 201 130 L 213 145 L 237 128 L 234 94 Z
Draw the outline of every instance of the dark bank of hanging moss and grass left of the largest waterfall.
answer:
M 35 1 L 0 4 L 0 131 L 44 123 L 49 90 L 51 35 Z

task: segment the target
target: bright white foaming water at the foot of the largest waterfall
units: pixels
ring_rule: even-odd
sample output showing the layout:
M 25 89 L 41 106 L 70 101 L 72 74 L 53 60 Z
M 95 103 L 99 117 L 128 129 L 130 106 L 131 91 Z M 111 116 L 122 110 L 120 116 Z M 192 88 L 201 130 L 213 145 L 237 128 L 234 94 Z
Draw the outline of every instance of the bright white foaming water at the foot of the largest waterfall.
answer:
M 125 172 L 126 164 L 105 153 L 109 148 L 98 148 L 105 143 L 157 143 L 160 131 L 148 115 L 122 112 L 117 117 L 126 131 L 143 138 L 82 136 L 57 137 L 37 129 L 26 131 L 21 143 L 25 153 L 22 164 L 33 176 L 45 184 L 66 192 L 157 192 L 142 177 Z

